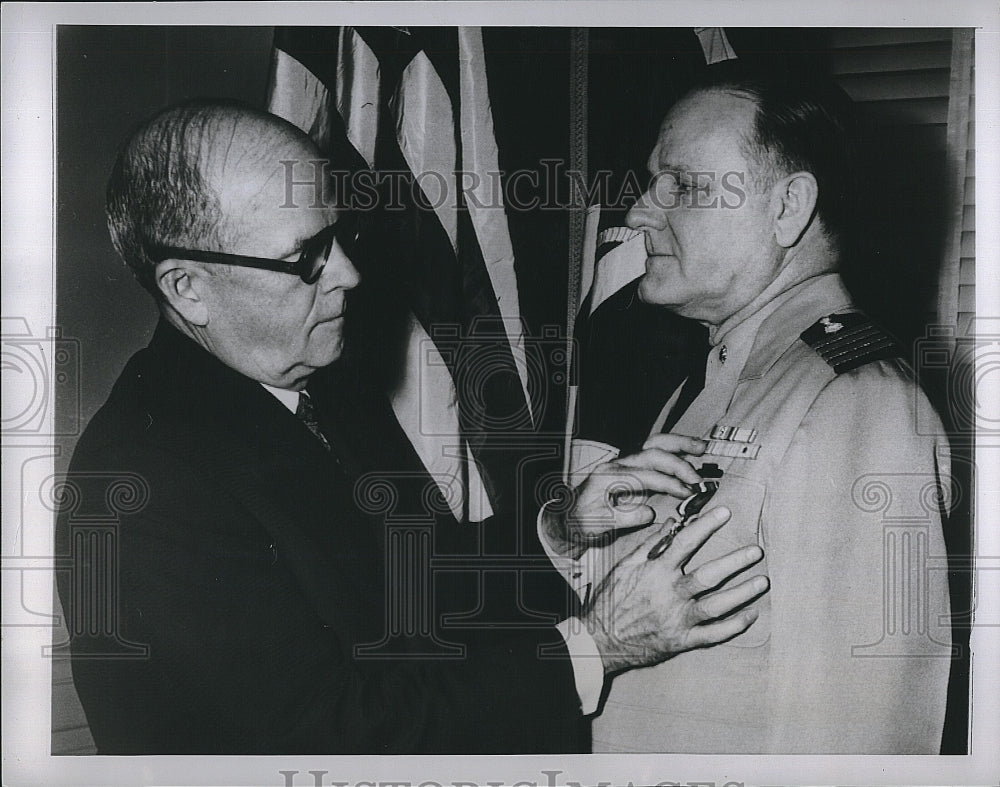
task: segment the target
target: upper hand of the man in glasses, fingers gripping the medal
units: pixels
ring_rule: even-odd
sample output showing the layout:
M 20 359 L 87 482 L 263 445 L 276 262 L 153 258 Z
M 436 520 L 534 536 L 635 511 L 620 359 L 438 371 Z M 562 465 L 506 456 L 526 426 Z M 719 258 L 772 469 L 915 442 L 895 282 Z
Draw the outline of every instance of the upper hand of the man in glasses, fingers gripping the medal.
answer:
M 562 506 L 546 507 L 542 528 L 559 554 L 579 558 L 619 530 L 645 527 L 655 512 L 652 494 L 685 498 L 701 477 L 687 456 L 701 456 L 707 443 L 677 434 L 653 435 L 642 451 L 597 465 Z

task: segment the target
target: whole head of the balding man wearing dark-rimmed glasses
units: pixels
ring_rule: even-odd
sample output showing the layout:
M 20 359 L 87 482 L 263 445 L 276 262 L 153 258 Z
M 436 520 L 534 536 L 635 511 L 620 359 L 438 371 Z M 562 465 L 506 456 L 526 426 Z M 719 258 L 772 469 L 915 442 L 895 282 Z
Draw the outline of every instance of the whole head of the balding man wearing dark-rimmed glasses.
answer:
M 319 198 L 288 201 L 286 179 L 325 172 L 321 163 L 284 120 L 199 101 L 140 126 L 108 185 L 115 248 L 164 318 L 241 374 L 282 388 L 301 388 L 340 355 L 346 293 L 358 283 L 341 245 L 355 222 L 331 204 L 326 181 Z

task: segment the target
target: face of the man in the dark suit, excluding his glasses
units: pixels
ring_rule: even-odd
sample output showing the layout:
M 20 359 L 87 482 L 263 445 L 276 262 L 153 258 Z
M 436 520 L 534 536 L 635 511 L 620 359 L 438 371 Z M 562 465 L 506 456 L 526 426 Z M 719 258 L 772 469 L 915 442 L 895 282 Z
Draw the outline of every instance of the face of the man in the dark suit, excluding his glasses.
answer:
M 286 179 L 313 180 L 319 151 L 296 140 L 263 157 L 248 157 L 220 189 L 230 219 L 233 254 L 295 261 L 303 244 L 338 219 L 311 188 L 296 187 L 288 206 Z M 298 163 L 289 173 L 280 161 Z M 317 165 L 318 166 L 318 165 Z M 358 272 L 334 241 L 312 284 L 299 276 L 231 267 L 212 287 L 212 351 L 247 376 L 281 388 L 301 388 L 316 369 L 339 357 L 346 294 Z

